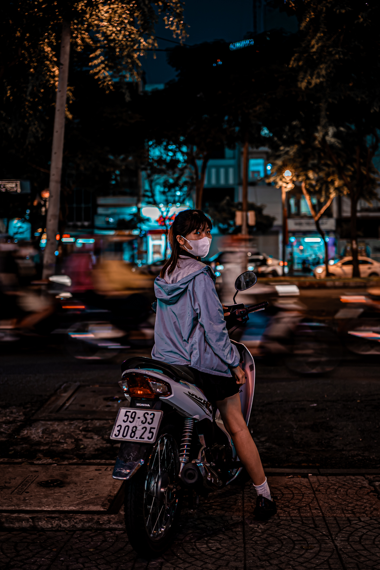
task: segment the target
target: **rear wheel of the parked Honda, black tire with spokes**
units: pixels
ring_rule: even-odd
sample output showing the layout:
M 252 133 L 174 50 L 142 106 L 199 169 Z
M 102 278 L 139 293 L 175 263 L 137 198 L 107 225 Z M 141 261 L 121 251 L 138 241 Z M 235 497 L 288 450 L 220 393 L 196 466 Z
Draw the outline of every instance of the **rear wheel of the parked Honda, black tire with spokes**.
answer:
M 124 518 L 128 539 L 145 559 L 159 556 L 169 547 L 181 512 L 178 447 L 172 431 L 163 430 L 145 465 L 126 484 Z

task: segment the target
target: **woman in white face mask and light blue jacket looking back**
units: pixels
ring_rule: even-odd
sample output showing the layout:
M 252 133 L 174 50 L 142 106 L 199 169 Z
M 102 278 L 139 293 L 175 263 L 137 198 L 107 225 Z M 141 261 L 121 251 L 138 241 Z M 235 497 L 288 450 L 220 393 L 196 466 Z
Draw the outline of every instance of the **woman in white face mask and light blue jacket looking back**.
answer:
M 185 210 L 169 230 L 171 257 L 155 280 L 152 358 L 191 368 L 196 384 L 219 409 L 237 455 L 256 487 L 254 514 L 268 518 L 276 513 L 276 503 L 271 500 L 260 455 L 241 413 L 238 394 L 245 374 L 228 337 L 215 274 L 200 260 L 208 254 L 211 229 L 210 219 L 201 210 Z

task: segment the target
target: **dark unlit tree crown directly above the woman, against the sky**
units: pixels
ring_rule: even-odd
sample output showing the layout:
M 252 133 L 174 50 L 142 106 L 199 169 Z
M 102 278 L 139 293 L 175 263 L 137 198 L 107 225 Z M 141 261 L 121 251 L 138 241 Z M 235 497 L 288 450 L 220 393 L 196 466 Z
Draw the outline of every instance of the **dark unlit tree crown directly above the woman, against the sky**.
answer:
M 169 140 L 187 146 L 194 186 L 201 167 L 225 146 L 235 148 L 246 139 L 256 146 L 268 142 L 263 127 L 281 120 L 282 101 L 294 99 L 294 83 L 286 82 L 285 74 L 295 42 L 294 36 L 273 30 L 240 51 L 215 40 L 169 52 L 176 81 L 145 96 L 136 113 L 157 144 Z

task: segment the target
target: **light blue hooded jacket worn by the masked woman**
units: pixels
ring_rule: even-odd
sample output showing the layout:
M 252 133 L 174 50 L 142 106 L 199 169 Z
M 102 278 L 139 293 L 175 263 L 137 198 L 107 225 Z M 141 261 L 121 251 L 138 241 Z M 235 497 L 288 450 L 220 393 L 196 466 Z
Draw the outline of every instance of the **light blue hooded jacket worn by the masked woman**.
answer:
M 240 356 L 228 338 L 211 268 L 203 266 L 177 283 L 157 277 L 155 294 L 152 358 L 168 364 L 187 364 L 217 376 L 232 376 L 229 367 L 237 367 Z

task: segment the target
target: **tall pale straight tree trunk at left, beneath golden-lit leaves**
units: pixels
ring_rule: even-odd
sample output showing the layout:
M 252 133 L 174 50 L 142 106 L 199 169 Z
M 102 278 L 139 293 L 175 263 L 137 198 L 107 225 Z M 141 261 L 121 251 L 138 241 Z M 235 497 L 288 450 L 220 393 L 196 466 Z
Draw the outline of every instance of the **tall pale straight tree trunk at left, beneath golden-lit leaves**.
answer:
M 59 205 L 60 205 L 60 178 L 62 174 L 64 119 L 66 112 L 66 92 L 68 78 L 68 64 L 70 60 L 70 22 L 62 24 L 62 38 L 60 42 L 59 78 L 56 92 L 54 132 L 51 148 L 50 181 L 49 181 L 49 207 L 47 210 L 46 233 L 47 242 L 43 254 L 42 278 L 47 279 L 55 271 L 55 235 L 58 231 Z

